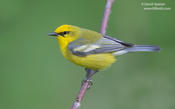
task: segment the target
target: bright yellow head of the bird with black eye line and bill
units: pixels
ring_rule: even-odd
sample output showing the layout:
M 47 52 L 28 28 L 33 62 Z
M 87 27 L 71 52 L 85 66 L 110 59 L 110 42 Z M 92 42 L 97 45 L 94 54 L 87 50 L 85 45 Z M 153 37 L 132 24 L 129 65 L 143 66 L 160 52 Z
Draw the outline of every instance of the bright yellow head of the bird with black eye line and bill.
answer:
M 76 40 L 80 35 L 80 28 L 72 25 L 62 25 L 52 33 L 49 33 L 50 36 L 56 36 L 59 43 L 69 43 L 73 40 Z

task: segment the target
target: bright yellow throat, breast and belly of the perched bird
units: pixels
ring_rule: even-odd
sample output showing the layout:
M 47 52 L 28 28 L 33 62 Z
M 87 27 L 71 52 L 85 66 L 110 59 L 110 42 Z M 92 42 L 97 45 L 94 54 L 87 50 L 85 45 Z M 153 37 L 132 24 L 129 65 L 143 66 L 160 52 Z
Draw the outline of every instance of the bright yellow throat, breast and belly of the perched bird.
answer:
M 115 62 L 115 57 L 112 55 L 112 53 L 103 53 L 103 54 L 92 54 L 85 57 L 80 57 L 73 55 L 68 49 L 67 45 L 69 41 L 65 41 L 64 37 L 58 37 L 58 43 L 61 49 L 61 52 L 63 56 L 80 66 L 83 66 L 85 68 L 93 69 L 93 70 L 99 70 L 104 69 L 106 67 L 109 67 L 112 63 Z

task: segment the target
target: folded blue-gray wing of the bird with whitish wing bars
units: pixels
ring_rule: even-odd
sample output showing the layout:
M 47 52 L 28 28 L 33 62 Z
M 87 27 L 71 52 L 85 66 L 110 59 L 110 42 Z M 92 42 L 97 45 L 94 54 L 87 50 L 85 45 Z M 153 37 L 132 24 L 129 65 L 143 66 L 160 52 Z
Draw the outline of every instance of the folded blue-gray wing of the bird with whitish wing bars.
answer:
M 104 36 L 95 43 L 87 43 L 85 39 L 78 39 L 68 45 L 68 49 L 77 56 L 90 54 L 111 53 L 132 47 L 133 44 L 126 43 L 110 36 Z

